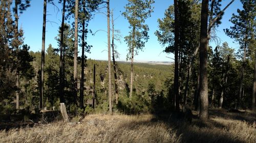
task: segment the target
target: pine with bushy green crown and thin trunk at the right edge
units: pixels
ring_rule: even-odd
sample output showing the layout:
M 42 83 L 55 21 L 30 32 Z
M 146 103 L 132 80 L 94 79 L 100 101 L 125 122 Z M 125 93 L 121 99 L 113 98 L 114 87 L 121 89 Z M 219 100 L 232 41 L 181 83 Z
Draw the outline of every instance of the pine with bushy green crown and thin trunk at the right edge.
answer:
M 256 15 L 256 1 L 253 0 L 241 0 L 243 9 L 238 9 L 238 15 L 233 14 L 230 21 L 233 26 L 230 29 L 225 29 L 226 35 L 230 38 L 234 38 L 239 42 L 241 49 L 243 49 L 243 60 L 240 74 L 239 96 L 238 96 L 238 108 L 242 107 L 242 88 L 244 80 L 245 61 L 248 51 L 248 46 L 252 43 L 255 33 L 255 15 Z

